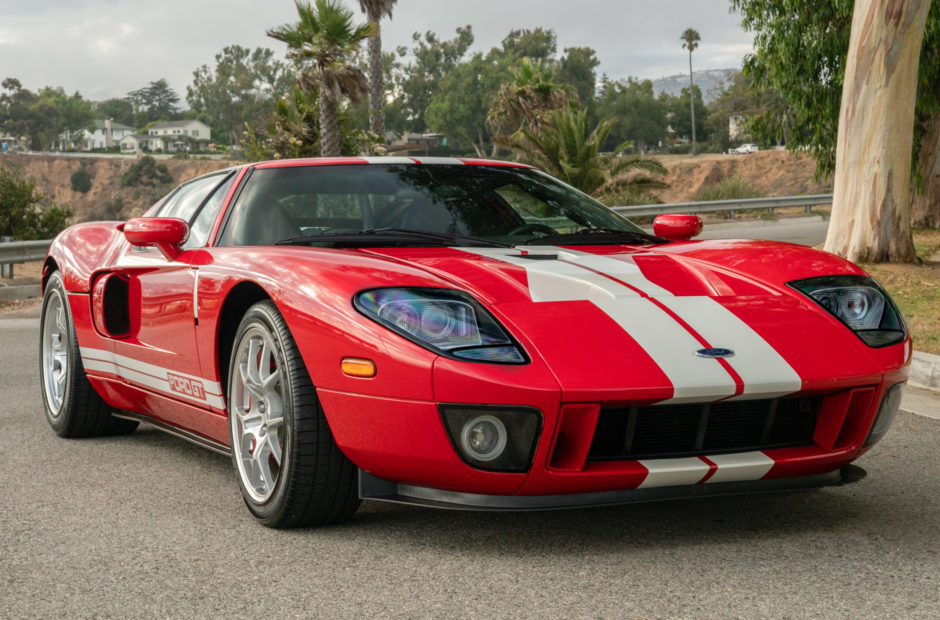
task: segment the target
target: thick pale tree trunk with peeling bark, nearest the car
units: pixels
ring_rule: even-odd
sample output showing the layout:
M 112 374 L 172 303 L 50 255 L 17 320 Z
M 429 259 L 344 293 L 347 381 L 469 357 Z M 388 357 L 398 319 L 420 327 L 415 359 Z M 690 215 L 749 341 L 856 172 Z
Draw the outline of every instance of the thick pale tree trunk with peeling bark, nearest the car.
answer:
M 855 262 L 916 260 L 911 149 L 930 0 L 856 0 L 826 250 Z

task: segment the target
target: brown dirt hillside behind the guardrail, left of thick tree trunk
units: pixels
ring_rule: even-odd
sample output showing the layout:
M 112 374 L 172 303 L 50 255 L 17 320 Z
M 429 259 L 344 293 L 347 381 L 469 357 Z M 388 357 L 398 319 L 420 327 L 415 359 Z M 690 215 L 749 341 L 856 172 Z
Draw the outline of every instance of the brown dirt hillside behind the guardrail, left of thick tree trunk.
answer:
M 669 175 L 669 188 L 660 192 L 664 203 L 689 202 L 705 186 L 741 177 L 767 196 L 826 194 L 829 183 L 813 179 L 816 163 L 805 155 L 760 151 L 750 155 L 666 156 L 660 158 Z

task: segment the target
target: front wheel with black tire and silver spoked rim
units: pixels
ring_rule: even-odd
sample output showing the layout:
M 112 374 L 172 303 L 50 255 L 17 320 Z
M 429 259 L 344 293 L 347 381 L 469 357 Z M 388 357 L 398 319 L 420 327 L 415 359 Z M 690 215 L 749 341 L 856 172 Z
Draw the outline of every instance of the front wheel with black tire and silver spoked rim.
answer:
M 333 440 L 297 345 L 270 301 L 249 308 L 236 332 L 228 416 L 235 475 L 258 521 L 290 528 L 352 518 L 356 466 Z

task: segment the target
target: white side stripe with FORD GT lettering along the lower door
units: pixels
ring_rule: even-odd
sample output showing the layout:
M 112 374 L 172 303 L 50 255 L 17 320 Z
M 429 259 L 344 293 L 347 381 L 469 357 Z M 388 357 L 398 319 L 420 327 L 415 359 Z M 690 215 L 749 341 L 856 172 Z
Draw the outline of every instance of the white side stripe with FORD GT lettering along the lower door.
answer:
M 104 349 L 81 347 L 79 351 L 82 356 L 82 365 L 86 370 L 117 375 L 127 381 L 163 392 L 180 400 L 201 405 L 208 404 L 219 409 L 225 408 L 225 400 L 222 398 L 222 386 L 216 381 L 177 372 L 162 366 L 155 366 Z M 173 389 L 170 383 L 171 380 L 175 382 L 177 389 Z M 198 388 L 193 391 L 193 386 L 202 388 L 204 398 L 197 395 Z M 183 391 L 181 389 L 183 387 L 189 389 L 190 393 Z

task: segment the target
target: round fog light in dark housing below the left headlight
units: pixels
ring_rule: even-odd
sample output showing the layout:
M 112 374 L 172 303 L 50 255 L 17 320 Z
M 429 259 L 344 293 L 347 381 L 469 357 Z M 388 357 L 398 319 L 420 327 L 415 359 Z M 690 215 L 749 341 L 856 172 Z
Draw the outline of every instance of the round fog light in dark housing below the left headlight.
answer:
M 492 471 L 526 471 L 542 427 L 542 414 L 527 407 L 441 405 L 454 449 L 468 465 Z

